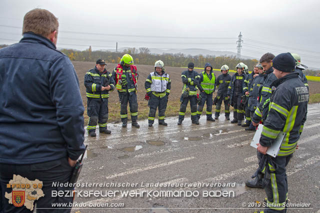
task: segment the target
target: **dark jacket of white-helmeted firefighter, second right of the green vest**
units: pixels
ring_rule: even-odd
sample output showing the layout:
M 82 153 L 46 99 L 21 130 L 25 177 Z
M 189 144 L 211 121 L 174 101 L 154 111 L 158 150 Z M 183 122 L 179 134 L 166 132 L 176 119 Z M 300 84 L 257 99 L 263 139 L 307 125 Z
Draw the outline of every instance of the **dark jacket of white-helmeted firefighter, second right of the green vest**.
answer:
M 230 96 L 230 100 L 232 100 L 232 96 L 234 93 L 237 96 L 242 96 L 244 94 L 243 88 L 245 87 L 245 78 L 246 74 L 244 74 L 243 72 L 240 75 L 237 72 L 232 75 L 227 91 L 227 96 Z

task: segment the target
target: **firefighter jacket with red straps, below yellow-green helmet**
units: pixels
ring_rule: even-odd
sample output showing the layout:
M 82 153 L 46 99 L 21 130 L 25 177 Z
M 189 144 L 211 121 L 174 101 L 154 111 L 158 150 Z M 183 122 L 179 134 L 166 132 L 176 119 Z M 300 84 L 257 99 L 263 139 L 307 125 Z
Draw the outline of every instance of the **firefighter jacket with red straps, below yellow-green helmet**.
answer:
M 127 83 L 122 85 L 122 75 L 126 76 Z M 136 92 L 137 91 L 137 79 L 138 79 L 138 73 L 136 71 L 135 65 L 130 65 L 129 67 L 122 66 L 121 64 L 118 64 L 113 72 L 112 77 L 115 82 L 115 88 L 119 92 Z

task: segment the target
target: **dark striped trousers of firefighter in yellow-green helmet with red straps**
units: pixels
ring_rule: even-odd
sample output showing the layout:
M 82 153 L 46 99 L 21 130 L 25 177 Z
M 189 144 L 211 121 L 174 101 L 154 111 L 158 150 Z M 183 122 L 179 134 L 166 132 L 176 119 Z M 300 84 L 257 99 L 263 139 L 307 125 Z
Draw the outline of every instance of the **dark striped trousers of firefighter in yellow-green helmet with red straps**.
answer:
M 129 102 L 130 113 L 131 113 L 131 121 L 136 122 L 138 116 L 138 102 L 136 99 L 135 92 L 118 92 L 119 99 L 121 102 L 121 109 L 120 109 L 120 117 L 122 123 L 127 123 L 128 120 L 128 112 L 127 112 L 127 105 Z

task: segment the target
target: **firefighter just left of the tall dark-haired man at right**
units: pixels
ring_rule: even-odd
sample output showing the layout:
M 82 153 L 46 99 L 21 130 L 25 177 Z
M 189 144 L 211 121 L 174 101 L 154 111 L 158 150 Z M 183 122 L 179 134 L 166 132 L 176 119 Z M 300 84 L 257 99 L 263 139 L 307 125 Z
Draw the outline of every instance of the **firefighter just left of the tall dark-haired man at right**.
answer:
M 248 111 L 249 111 L 250 117 L 253 116 L 253 112 L 256 109 L 256 105 L 261 98 L 260 90 L 261 90 L 263 82 L 267 76 L 260 63 L 255 64 L 254 73 L 256 71 L 258 72 L 258 76 L 254 77 L 254 79 L 252 80 L 252 82 L 249 86 L 250 92 L 249 92 L 249 101 L 248 101 Z M 245 128 L 245 130 L 255 131 L 255 127 L 252 125 L 251 121 L 249 123 L 249 126 L 247 128 Z

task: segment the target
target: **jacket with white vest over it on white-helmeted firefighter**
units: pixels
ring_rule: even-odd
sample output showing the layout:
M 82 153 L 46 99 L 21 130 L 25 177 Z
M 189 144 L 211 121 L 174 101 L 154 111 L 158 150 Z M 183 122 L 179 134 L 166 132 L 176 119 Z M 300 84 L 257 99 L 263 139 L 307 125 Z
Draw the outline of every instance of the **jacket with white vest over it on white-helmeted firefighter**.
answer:
M 144 82 L 146 93 L 154 94 L 157 97 L 163 97 L 169 95 L 171 88 L 171 80 L 169 74 L 162 71 L 158 74 L 156 71 L 150 72 Z

